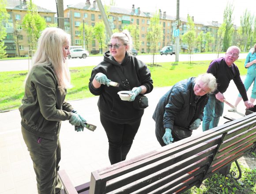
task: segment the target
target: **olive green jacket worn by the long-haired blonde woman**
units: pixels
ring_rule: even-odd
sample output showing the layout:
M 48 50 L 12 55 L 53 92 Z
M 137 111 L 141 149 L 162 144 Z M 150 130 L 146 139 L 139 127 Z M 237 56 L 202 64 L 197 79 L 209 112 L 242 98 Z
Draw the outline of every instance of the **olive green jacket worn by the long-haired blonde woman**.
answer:
M 25 85 L 22 105 L 19 107 L 21 125 L 41 138 L 56 139 L 60 121 L 71 118 L 72 106 L 64 101 L 66 89 L 58 88 L 51 65 L 32 68 Z

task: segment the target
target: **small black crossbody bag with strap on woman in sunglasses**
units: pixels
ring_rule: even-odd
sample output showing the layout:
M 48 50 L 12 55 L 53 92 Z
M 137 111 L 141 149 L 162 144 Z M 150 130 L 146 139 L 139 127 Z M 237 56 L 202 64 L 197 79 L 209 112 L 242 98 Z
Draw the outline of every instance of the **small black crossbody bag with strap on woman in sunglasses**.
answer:
M 118 75 L 121 77 L 121 79 L 124 80 L 124 81 L 122 81 L 123 84 L 124 84 L 124 86 L 125 86 L 128 90 L 131 91 L 132 88 L 131 88 L 131 86 L 130 86 L 128 80 L 124 77 L 123 72 L 122 72 L 118 67 L 116 67 L 116 66 L 114 66 L 114 67 L 116 68 L 116 70 L 117 70 L 117 72 L 118 72 Z M 139 94 L 135 97 L 134 101 L 132 102 L 132 106 L 133 106 L 133 108 L 138 109 L 138 110 L 147 108 L 147 107 L 148 107 L 148 99 L 147 99 L 147 97 L 146 97 L 145 95 L 139 93 Z

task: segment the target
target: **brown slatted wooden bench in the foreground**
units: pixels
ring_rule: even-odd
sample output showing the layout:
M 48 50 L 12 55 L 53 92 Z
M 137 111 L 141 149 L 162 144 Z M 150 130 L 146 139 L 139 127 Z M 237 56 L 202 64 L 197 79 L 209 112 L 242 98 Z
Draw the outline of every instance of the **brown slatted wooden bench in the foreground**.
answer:
M 67 194 L 182 193 L 193 186 L 200 187 L 204 179 L 255 147 L 256 113 L 252 113 L 195 137 L 94 171 L 90 183 L 78 187 L 72 186 L 64 170 L 58 175 Z

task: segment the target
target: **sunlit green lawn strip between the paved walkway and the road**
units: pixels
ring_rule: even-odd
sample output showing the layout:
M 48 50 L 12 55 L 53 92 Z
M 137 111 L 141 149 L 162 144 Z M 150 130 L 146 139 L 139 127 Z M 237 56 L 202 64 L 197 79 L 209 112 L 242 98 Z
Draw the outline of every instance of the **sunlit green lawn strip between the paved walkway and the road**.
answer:
M 211 61 L 158 63 L 161 66 L 149 67 L 154 87 L 172 86 L 176 82 L 196 77 L 204 73 Z M 237 60 L 241 75 L 246 74 L 245 60 Z M 73 88 L 68 90 L 66 100 L 93 97 L 88 90 L 88 82 L 93 66 L 70 68 Z M 0 72 L 0 111 L 18 108 L 24 94 L 24 80 L 27 71 Z

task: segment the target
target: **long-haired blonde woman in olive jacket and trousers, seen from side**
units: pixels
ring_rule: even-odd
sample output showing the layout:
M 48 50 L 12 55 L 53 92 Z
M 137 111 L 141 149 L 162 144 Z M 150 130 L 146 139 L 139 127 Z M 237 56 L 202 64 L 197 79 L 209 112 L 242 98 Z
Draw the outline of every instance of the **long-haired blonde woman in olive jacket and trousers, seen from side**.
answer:
M 62 185 L 56 173 L 61 121 L 69 120 L 77 131 L 82 131 L 86 122 L 64 101 L 70 86 L 69 71 L 64 65 L 70 53 L 69 42 L 70 36 L 61 29 L 43 30 L 19 107 L 23 139 L 33 160 L 39 194 L 60 193 Z

